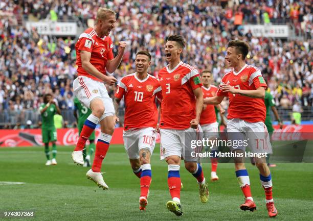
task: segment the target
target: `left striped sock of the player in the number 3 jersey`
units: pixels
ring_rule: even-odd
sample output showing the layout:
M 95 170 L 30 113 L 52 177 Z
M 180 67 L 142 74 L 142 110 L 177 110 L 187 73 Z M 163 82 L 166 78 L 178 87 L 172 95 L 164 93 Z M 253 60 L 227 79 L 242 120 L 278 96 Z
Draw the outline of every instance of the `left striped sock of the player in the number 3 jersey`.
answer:
M 167 176 L 168 188 L 172 197 L 172 200 L 181 203 L 181 176 L 180 165 L 169 164 L 168 176 Z

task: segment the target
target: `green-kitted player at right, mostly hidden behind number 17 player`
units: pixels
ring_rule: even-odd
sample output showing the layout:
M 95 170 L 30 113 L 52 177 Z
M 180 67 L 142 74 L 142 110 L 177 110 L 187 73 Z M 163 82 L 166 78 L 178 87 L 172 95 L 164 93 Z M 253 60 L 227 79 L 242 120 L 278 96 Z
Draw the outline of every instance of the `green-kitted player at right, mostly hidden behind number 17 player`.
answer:
M 274 128 L 272 125 L 272 119 L 271 119 L 271 111 L 273 111 L 274 116 L 276 118 L 276 120 L 278 120 L 278 124 L 279 124 L 279 128 L 282 129 L 283 124 L 278 116 L 278 111 L 275 107 L 275 101 L 273 99 L 273 96 L 270 92 L 265 91 L 265 97 L 264 97 L 264 103 L 265 103 L 265 107 L 266 107 L 266 118 L 265 118 L 265 126 L 267 128 L 267 131 L 270 134 L 270 141 L 272 143 L 272 134 L 274 132 Z M 266 161 L 267 161 L 267 165 L 269 165 L 270 167 L 275 167 L 276 164 L 271 164 L 269 163 L 270 160 L 270 155 L 267 155 Z

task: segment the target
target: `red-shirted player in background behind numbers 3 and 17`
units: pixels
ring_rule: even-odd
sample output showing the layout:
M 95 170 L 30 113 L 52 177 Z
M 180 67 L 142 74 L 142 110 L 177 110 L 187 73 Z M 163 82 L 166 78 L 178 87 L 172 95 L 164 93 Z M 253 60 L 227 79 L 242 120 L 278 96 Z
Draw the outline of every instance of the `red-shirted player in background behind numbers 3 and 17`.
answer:
M 216 95 L 217 87 L 211 84 L 211 72 L 208 69 L 202 71 L 202 92 L 204 98 L 212 97 Z M 221 117 L 225 113 L 220 105 L 215 105 L 219 110 Z M 204 105 L 201 116 L 200 116 L 200 126 L 204 133 L 205 139 L 217 139 L 218 137 L 218 122 L 215 113 L 214 105 Z M 215 156 L 218 146 L 211 146 L 212 156 Z M 217 169 L 217 157 L 211 157 L 211 181 L 218 181 L 218 176 L 216 174 Z

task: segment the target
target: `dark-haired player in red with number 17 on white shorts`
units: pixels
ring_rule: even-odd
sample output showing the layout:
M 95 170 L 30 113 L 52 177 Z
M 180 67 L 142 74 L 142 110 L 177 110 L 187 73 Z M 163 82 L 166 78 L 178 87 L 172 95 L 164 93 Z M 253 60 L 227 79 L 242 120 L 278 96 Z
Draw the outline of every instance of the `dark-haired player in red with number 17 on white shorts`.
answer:
M 254 153 L 272 153 L 269 133 L 264 125 L 265 105 L 264 96 L 267 87 L 260 70 L 245 64 L 245 57 L 249 52 L 249 45 L 241 40 L 228 43 L 226 61 L 233 69 L 223 76 L 217 95 L 204 99 L 205 104 L 220 104 L 225 96 L 229 97 L 229 113 L 227 132 L 230 140 L 247 139 L 249 147 Z M 233 135 L 235 134 L 235 135 Z M 235 153 L 244 153 L 245 146 L 231 148 Z M 244 154 L 243 154 L 244 156 Z M 256 210 L 253 202 L 248 171 L 243 159 L 234 158 L 236 176 L 245 196 L 242 210 Z M 272 177 L 270 168 L 264 157 L 255 157 L 256 166 L 260 171 L 261 184 L 265 190 L 266 208 L 270 217 L 277 215 L 272 197 Z

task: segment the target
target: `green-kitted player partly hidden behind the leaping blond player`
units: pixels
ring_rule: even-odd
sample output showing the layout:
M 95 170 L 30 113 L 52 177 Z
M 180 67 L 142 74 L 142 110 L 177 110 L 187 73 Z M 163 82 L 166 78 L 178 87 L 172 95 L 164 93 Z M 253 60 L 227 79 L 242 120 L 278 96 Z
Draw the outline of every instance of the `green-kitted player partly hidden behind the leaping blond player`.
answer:
M 78 112 L 78 115 L 77 115 Z M 86 121 L 87 117 L 89 115 L 91 115 L 92 111 L 85 107 L 84 105 L 82 105 L 79 100 L 77 99 L 77 97 L 75 97 L 74 99 L 74 117 L 77 119 L 77 127 L 78 127 L 78 134 L 80 135 L 80 132 L 84 126 L 84 122 Z M 83 157 L 84 157 L 84 167 L 86 166 L 91 166 L 90 163 L 90 156 L 94 153 L 95 151 L 95 131 L 92 132 L 92 134 L 89 137 L 89 152 L 86 156 L 86 148 L 83 149 Z

